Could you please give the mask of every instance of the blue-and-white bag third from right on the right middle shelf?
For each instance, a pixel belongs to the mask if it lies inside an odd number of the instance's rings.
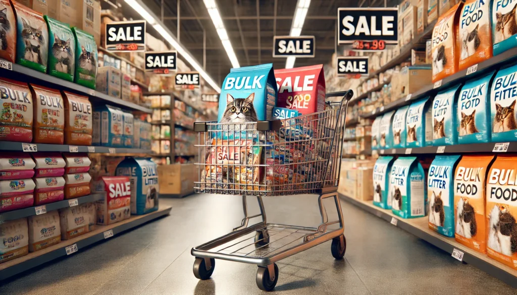
[[[438,92],[433,100],[433,146],[458,144],[455,97],[460,85]]]

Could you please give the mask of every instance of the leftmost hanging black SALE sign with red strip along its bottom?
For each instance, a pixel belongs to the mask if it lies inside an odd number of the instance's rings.
[[[106,49],[111,52],[145,51],[145,21],[106,24]]]

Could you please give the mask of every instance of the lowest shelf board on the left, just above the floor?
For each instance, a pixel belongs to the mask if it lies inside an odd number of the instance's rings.
[[[35,268],[47,263],[51,260],[59,257],[66,257],[66,247],[77,244],[78,252],[81,252],[85,247],[102,241],[104,238],[104,232],[112,230],[113,236],[117,236],[126,230],[140,226],[151,220],[160,218],[161,216],[168,215],[171,211],[171,207],[160,207],[158,211],[148,213],[146,215],[131,215],[131,218],[121,221],[119,223],[97,226],[95,230],[87,232],[86,234],[73,238],[70,240],[64,240],[57,245],[48,247],[37,252],[29,253],[28,255],[7,261],[0,264],[0,281],[5,280],[8,277],[19,274],[23,271]],[[110,232],[111,234],[111,232]],[[112,239],[113,237],[108,237]]]

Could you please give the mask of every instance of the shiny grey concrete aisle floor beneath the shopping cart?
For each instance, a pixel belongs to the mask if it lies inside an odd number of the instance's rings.
[[[240,224],[240,197],[202,194],[161,201],[173,207],[170,216],[0,282],[0,294],[262,293],[254,265],[217,260],[211,280],[199,281],[192,274],[190,249]],[[268,222],[315,226],[320,221],[314,196],[266,198],[265,206]],[[345,201],[341,206],[346,259],[334,260],[326,242],[281,260],[273,293],[517,294],[376,216]]]

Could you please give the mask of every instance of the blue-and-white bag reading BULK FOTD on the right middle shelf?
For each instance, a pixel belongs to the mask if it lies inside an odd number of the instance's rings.
[[[458,144],[488,143],[490,132],[490,86],[495,72],[470,80],[458,96]]]

